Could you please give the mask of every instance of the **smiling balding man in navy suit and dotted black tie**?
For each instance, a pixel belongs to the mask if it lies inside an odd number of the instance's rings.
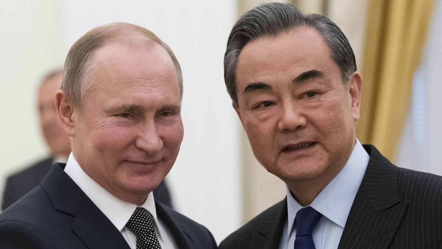
[[[81,37],[55,95],[72,153],[0,214],[0,248],[217,248],[152,195],[183,139],[182,86],[175,55],[145,28],[112,23]]]

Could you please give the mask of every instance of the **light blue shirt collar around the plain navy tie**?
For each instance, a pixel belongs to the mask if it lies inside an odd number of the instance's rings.
[[[344,228],[369,160],[370,156],[359,140],[356,139],[353,151],[343,169],[316,196],[310,206],[338,226]],[[293,198],[287,185],[286,189],[289,225],[287,226],[287,233],[289,238],[296,213],[303,207]]]

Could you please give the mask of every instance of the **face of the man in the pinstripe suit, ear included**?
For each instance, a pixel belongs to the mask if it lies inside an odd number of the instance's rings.
[[[258,38],[241,51],[236,111],[255,157],[287,184],[333,178],[355,143],[361,81],[343,84],[312,28]],[[290,184],[289,184],[290,185]]]

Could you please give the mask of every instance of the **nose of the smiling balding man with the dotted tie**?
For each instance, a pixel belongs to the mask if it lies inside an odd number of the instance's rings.
[[[154,120],[147,120],[140,127],[139,134],[135,140],[135,146],[149,155],[159,153],[161,148],[163,148],[163,140],[160,138]]]

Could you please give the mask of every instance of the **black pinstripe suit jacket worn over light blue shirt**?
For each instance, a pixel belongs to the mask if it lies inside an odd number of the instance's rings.
[[[370,161],[338,249],[442,248],[442,177],[398,168],[371,145]],[[220,249],[278,249],[287,199],[221,242]]]

